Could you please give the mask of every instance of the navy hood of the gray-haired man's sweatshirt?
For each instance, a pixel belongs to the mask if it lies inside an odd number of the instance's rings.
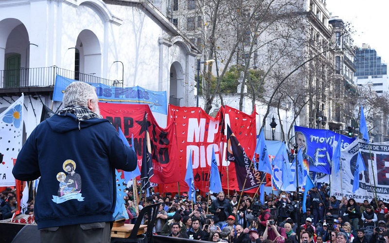
[[[82,128],[93,126],[102,122],[109,122],[106,119],[91,118],[85,121],[79,121],[77,117],[71,113],[55,114],[51,118],[45,120],[50,128],[56,133],[67,133],[72,130],[81,130]]]

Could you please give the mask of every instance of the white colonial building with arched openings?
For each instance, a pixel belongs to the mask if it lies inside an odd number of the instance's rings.
[[[55,74],[110,86],[167,91],[195,101],[194,44],[141,0],[1,0],[0,112],[25,94],[29,134],[52,104]],[[169,100],[168,100],[169,102]],[[156,114],[160,125],[166,116]]]

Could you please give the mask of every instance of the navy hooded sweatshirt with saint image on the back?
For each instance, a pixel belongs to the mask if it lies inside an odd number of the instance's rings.
[[[113,221],[115,168],[133,171],[136,165],[135,152],[108,120],[60,113],[35,127],[13,174],[22,181],[41,176],[34,212],[41,229]]]

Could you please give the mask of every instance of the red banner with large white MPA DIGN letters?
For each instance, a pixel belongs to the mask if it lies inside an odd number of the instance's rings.
[[[213,148],[223,189],[238,189],[235,165],[226,160],[227,124],[230,124],[232,132],[240,141],[247,155],[252,156],[256,139],[255,112],[245,114],[226,105],[225,108],[220,107],[216,117],[213,118],[201,107],[169,105],[168,113],[169,119],[176,119],[181,176],[186,172],[186,161],[188,161],[189,153],[192,150],[195,187],[200,191],[209,191]],[[183,177],[179,186],[180,191],[188,191]],[[177,184],[164,185],[163,191],[177,191]],[[252,189],[248,192],[255,191],[256,189]]]

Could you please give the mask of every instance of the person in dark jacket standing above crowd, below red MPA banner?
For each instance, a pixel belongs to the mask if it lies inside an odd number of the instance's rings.
[[[226,224],[228,216],[232,214],[232,207],[230,205],[230,200],[225,198],[223,191],[220,191],[217,194],[217,198],[212,201],[210,212],[213,213],[213,221],[216,226],[221,228]]]

